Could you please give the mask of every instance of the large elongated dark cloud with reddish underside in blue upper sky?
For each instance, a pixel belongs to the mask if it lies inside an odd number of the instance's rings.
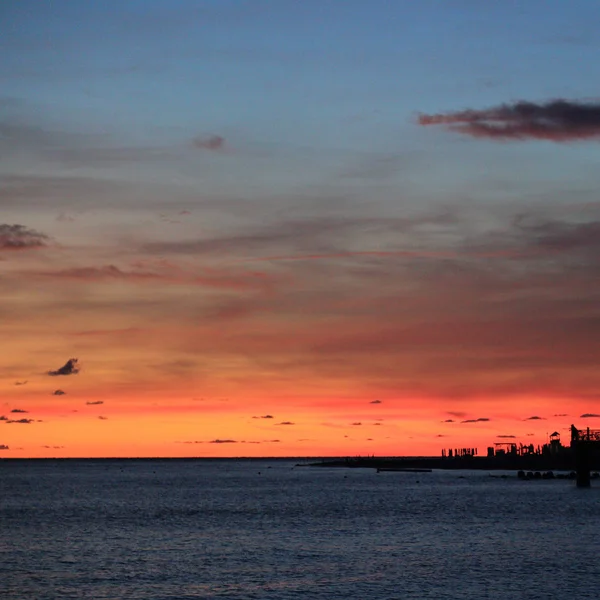
[[[500,140],[553,142],[600,138],[600,104],[570,100],[520,101],[483,110],[419,116],[420,125],[447,125],[470,135]]]

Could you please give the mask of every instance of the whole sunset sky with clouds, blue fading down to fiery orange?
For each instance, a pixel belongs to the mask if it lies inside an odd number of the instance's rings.
[[[0,457],[600,428],[596,0],[0,3]]]

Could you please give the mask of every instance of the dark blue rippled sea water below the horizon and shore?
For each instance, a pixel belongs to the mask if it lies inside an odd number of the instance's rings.
[[[600,597],[600,483],[0,461],[0,597]]]

